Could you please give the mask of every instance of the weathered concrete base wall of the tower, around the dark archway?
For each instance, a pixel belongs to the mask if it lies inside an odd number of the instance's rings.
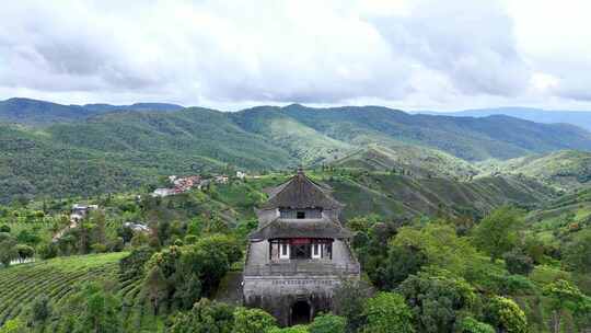
[[[333,291],[341,280],[341,276],[335,275],[244,277],[244,305],[264,309],[280,325],[290,325],[291,308],[297,301],[308,301],[311,318],[329,311]]]

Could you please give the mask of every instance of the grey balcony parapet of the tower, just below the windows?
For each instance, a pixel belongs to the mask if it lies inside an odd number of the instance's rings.
[[[289,262],[276,262],[268,264],[250,264],[244,267],[244,276],[271,276],[271,275],[357,275],[360,272],[359,264],[320,263],[305,260],[290,260]]]

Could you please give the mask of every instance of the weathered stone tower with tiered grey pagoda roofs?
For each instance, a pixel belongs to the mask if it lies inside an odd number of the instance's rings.
[[[265,309],[282,325],[305,323],[331,310],[343,279],[359,278],[351,233],[338,219],[343,204],[301,170],[268,193],[250,236],[244,303]]]

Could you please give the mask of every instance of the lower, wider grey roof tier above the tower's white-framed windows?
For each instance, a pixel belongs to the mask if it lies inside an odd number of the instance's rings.
[[[280,238],[350,238],[351,232],[331,219],[277,218],[250,234],[251,240]]]

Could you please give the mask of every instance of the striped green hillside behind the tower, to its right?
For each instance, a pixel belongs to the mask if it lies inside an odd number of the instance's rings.
[[[552,198],[552,188],[517,177],[483,177],[473,182],[449,179],[414,179],[385,173],[333,177],[327,183],[335,197],[347,204],[347,218],[379,214],[386,217],[434,215],[439,209],[454,214],[483,215],[502,204],[532,206]]]

